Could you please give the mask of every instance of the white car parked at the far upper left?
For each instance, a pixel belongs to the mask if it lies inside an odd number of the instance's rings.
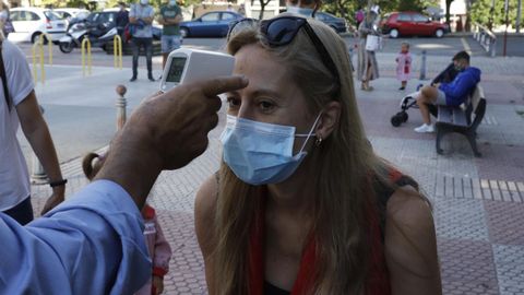
[[[53,43],[58,43],[68,27],[68,22],[49,9],[13,8],[10,17],[14,26],[14,33],[9,34],[12,42],[35,43],[39,35],[46,33]]]

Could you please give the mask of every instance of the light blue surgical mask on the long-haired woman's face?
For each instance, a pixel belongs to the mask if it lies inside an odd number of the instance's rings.
[[[308,134],[295,134],[295,127],[227,116],[221,141],[224,162],[243,182],[259,186],[286,180],[298,168],[307,152],[303,151],[320,115]],[[300,151],[293,155],[295,138],[307,138]]]

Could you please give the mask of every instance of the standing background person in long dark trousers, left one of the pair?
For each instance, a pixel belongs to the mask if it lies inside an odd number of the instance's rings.
[[[131,82],[136,81],[139,74],[139,55],[140,48],[144,47],[145,60],[147,63],[147,79],[155,82],[153,78],[153,17],[155,10],[150,5],[148,0],[140,0],[131,7],[129,13],[129,22],[133,25],[132,44],[133,44],[133,76]]]

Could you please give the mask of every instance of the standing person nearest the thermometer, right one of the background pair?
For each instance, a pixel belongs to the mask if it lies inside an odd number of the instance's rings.
[[[166,67],[169,52],[180,48],[180,22],[183,21],[182,10],[176,0],[169,0],[167,4],[160,8],[160,17],[158,23],[164,25],[162,31],[162,68]]]

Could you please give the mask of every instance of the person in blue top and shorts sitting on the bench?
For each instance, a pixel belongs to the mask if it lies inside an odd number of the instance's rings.
[[[415,128],[416,132],[434,131],[434,126],[431,125],[431,118],[429,117],[428,105],[458,106],[464,103],[467,95],[472,93],[475,85],[480,81],[480,70],[469,67],[469,55],[466,51],[456,54],[453,57],[453,64],[458,74],[452,82],[437,83],[420,88],[416,99],[424,123]]]

